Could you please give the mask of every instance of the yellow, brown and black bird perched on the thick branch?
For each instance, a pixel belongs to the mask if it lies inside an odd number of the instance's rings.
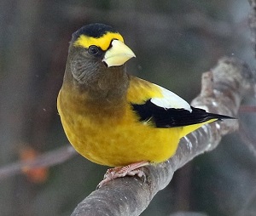
[[[110,167],[99,184],[172,157],[187,134],[232,117],[189,105],[166,88],[132,76],[136,57],[119,31],[101,23],[72,35],[57,109],[67,139],[91,162]]]

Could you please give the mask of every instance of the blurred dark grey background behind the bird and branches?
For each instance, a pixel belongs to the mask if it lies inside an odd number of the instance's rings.
[[[201,73],[220,57],[255,65],[249,9],[241,0],[1,0],[0,168],[68,144],[56,97],[68,42],[79,27],[114,26],[137,55],[127,65],[131,74],[191,101],[200,92]],[[255,140],[253,115],[241,113],[240,121]],[[256,159],[246,142],[239,133],[226,136],[216,150],[178,170],[142,215],[256,215]],[[75,155],[0,179],[0,215],[70,215],[106,169]]]

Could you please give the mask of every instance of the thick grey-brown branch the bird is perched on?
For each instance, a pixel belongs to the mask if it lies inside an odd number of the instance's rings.
[[[236,116],[243,95],[253,92],[253,73],[240,60],[223,58],[202,76],[201,94],[192,105],[208,111]],[[144,168],[146,179],[125,177],[93,191],[79,203],[72,216],[139,215],[154,195],[166,187],[173,173],[195,156],[217,147],[224,134],[238,128],[237,120],[215,122],[198,129],[180,141],[177,152],[166,162]]]

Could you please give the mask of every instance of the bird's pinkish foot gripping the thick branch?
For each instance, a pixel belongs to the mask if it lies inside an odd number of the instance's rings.
[[[145,174],[143,170],[140,168],[148,165],[149,162],[135,162],[131,163],[125,167],[116,167],[116,168],[109,168],[107,170],[107,173],[104,175],[104,179],[100,182],[100,184],[97,186],[97,188],[101,188],[103,185],[105,185],[107,182],[117,179],[120,177],[125,177],[126,175],[134,176],[137,175],[139,178],[143,177]]]

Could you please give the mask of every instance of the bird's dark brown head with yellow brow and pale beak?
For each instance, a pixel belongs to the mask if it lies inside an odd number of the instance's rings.
[[[65,79],[84,88],[108,88],[135,54],[111,26],[90,24],[73,33]],[[109,82],[109,83],[108,83]],[[102,86],[102,87],[101,87]]]

